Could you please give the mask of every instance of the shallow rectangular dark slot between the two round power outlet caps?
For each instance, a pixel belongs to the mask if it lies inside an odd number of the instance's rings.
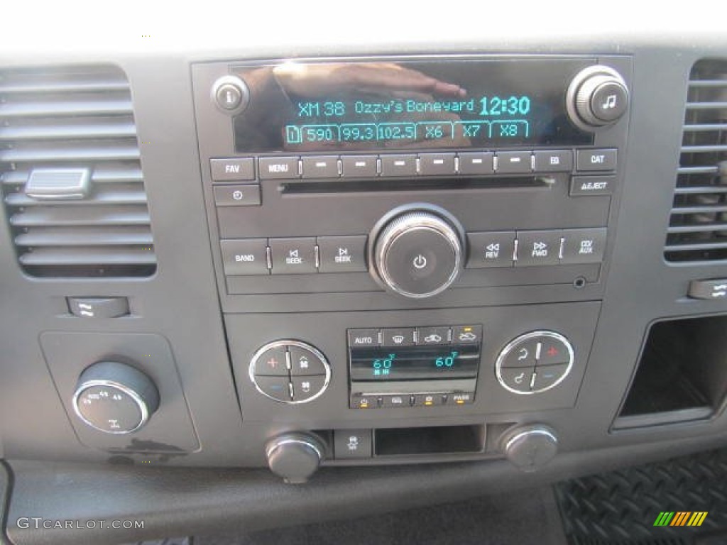
[[[374,430],[376,456],[478,453],[484,444],[485,427],[478,425]]]

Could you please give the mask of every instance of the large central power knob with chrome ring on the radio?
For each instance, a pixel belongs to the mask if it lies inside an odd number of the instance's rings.
[[[393,211],[372,238],[374,279],[397,294],[414,299],[439,294],[462,268],[462,228],[433,206]]]

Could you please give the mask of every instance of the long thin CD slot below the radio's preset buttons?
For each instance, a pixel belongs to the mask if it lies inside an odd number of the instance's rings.
[[[547,190],[556,182],[553,176],[518,177],[457,177],[457,178],[369,178],[334,179],[331,181],[301,180],[281,184],[283,195],[311,193],[371,193],[411,190],[467,190],[467,189],[541,189]]]

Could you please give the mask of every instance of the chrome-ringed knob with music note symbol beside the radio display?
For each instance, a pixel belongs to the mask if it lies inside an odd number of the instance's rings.
[[[619,121],[629,107],[629,91],[621,74],[608,66],[581,70],[568,88],[567,109],[571,121],[593,132]]]

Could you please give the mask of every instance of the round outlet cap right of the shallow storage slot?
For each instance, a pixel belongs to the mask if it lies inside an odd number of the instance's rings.
[[[507,459],[524,472],[537,471],[558,453],[555,431],[542,424],[513,429],[505,434],[501,445]]]

